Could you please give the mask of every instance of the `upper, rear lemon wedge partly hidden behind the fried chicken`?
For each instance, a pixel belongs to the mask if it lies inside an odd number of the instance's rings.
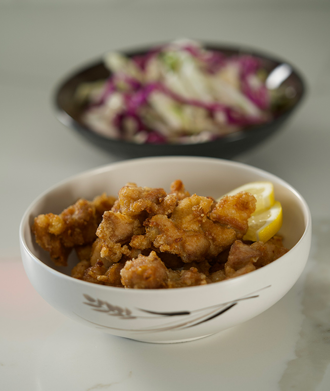
[[[227,193],[226,196],[234,196],[240,192],[248,192],[255,196],[257,200],[255,213],[269,209],[275,203],[274,185],[272,182],[259,181],[246,183],[245,185],[242,185]]]

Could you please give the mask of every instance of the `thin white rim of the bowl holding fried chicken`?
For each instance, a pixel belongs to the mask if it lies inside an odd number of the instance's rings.
[[[271,178],[273,177],[274,179],[276,179],[278,184],[280,184],[281,186],[284,186],[286,189],[288,189],[300,201],[301,206],[302,206],[302,211],[303,211],[304,223],[305,223],[304,232],[301,235],[301,238],[298,240],[298,242],[296,244],[294,244],[294,246],[291,247],[287,253],[285,253],[280,258],[278,258],[276,260],[277,261],[276,263],[272,262],[272,263],[266,265],[267,266],[267,270],[269,270],[272,267],[275,267],[274,265],[279,264],[280,262],[284,262],[283,259],[287,258],[287,256],[289,256],[289,253],[295,247],[297,247],[302,241],[304,241],[306,236],[308,236],[310,234],[311,228],[312,228],[312,217],[311,217],[311,212],[310,212],[310,209],[309,209],[309,206],[308,206],[306,200],[303,198],[303,196],[296,189],[294,189],[290,184],[288,184],[286,181],[284,181],[280,177],[276,176],[275,174],[272,174],[272,173],[267,172],[267,171],[265,171],[265,170],[263,170],[261,168],[254,167],[254,166],[251,166],[251,165],[248,165],[248,164],[245,164],[245,163],[241,163],[241,162],[237,162],[237,161],[231,161],[231,160],[227,160],[227,159],[215,158],[215,157],[203,157],[203,156],[147,156],[147,157],[139,157],[139,158],[128,159],[128,160],[123,160],[123,161],[116,161],[116,162],[108,163],[108,164],[105,164],[105,165],[101,165],[101,166],[98,166],[98,167],[95,167],[95,168],[92,168],[92,169],[80,172],[78,174],[72,175],[72,176],[70,176],[70,177],[68,177],[68,178],[66,178],[66,179],[64,179],[64,180],[62,180],[62,181],[52,185],[48,189],[46,189],[44,192],[42,192],[37,198],[35,198],[30,203],[30,205],[27,207],[27,209],[25,210],[25,212],[24,212],[24,214],[23,214],[23,216],[21,218],[21,222],[20,222],[20,225],[19,225],[19,242],[20,242],[20,245],[21,245],[22,249],[24,249],[24,251],[30,256],[30,258],[33,259],[34,262],[38,263],[39,266],[43,267],[48,272],[53,273],[55,276],[57,276],[59,278],[68,279],[68,281],[70,280],[74,284],[83,284],[83,286],[86,286],[86,287],[91,286],[91,284],[93,284],[93,283],[75,279],[75,278],[73,278],[73,277],[71,277],[69,275],[66,275],[66,274],[64,274],[64,273],[62,273],[60,271],[57,271],[57,270],[53,269],[51,266],[46,265],[29,248],[28,244],[26,243],[25,230],[26,230],[27,226],[29,225],[28,221],[29,221],[29,218],[30,218],[30,215],[31,215],[31,210],[34,208],[34,206],[36,206],[38,204],[38,202],[43,197],[45,197],[47,194],[50,194],[55,189],[57,189],[59,187],[62,187],[62,186],[65,186],[65,185],[68,185],[72,180],[78,180],[79,178],[83,178],[84,176],[89,176],[91,174],[101,174],[101,173],[107,172],[109,170],[110,171],[115,170],[117,167],[124,167],[124,166],[132,165],[132,164],[135,164],[135,163],[143,164],[144,162],[152,161],[152,160],[157,160],[157,161],[161,161],[161,160],[166,160],[166,161],[168,161],[168,160],[183,161],[183,160],[186,160],[186,161],[189,161],[191,159],[198,160],[198,161],[205,161],[205,162],[218,162],[219,164],[236,166],[236,167],[241,167],[241,168],[245,168],[245,169],[246,168],[247,169],[252,169],[252,171],[254,171],[255,173],[267,174],[267,176],[269,176]],[[21,258],[23,258],[22,254],[21,254]],[[223,280],[223,281],[215,282],[215,283],[212,283],[212,284],[206,284],[206,285],[200,285],[200,286],[191,286],[191,287],[184,287],[184,288],[185,288],[185,291],[187,289],[189,289],[189,292],[191,292],[192,290],[202,289],[202,287],[204,287],[204,290],[205,289],[214,289],[214,287],[216,287],[218,284],[222,284],[222,286],[235,285],[235,284],[239,283],[242,280],[248,279],[251,274],[253,274],[255,276],[256,273],[258,273],[258,274],[264,273],[264,270],[265,270],[265,267],[261,267],[259,269],[254,270],[251,273],[243,274],[243,275],[237,276],[237,277],[235,277],[233,279]],[[118,292],[134,292],[135,294],[139,294],[139,295],[148,294],[147,292],[150,292],[150,291],[153,294],[154,293],[159,294],[159,292],[173,292],[173,291],[177,292],[178,290],[182,290],[182,288],[171,288],[171,289],[121,289],[121,288],[118,288],[118,287],[111,287],[111,286],[105,286],[105,285],[100,285],[100,284],[93,284],[93,286],[97,286],[99,289],[107,290],[108,292],[117,292],[117,293]],[[130,294],[130,293],[127,293],[127,294]],[[170,293],[165,293],[165,294],[170,294]]]

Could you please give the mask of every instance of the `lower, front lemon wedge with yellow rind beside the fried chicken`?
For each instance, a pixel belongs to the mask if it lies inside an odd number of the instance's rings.
[[[267,242],[282,227],[283,212],[280,201],[275,201],[274,205],[266,210],[257,212],[248,219],[248,230],[243,240],[252,242]]]

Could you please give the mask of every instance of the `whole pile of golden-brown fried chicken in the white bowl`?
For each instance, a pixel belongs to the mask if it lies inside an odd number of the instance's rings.
[[[35,218],[36,241],[57,265],[75,248],[74,278],[132,289],[182,288],[234,278],[263,267],[287,249],[276,236],[244,243],[256,200],[249,193],[190,195],[181,180],[170,192],[128,183],[118,199],[79,199],[59,215]]]

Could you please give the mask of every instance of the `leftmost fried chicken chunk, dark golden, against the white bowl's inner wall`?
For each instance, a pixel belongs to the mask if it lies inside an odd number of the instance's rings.
[[[72,247],[93,243],[104,208],[111,208],[113,200],[105,194],[93,201],[81,198],[59,215],[40,214],[32,226],[36,242],[56,265],[66,266]]]

